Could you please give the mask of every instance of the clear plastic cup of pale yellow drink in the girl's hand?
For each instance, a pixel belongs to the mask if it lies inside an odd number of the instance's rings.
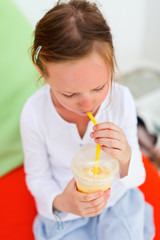
[[[72,160],[72,171],[80,192],[106,191],[112,185],[119,163],[115,158],[100,151],[98,174],[94,174],[96,145],[86,146]]]

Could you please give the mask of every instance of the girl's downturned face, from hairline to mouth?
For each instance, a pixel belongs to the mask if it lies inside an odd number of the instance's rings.
[[[98,53],[77,61],[47,63],[46,68],[55,106],[85,116],[94,113],[106,98],[111,73]]]

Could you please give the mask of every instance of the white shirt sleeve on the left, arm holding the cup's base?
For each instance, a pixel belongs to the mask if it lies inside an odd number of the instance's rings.
[[[27,104],[20,118],[26,183],[39,214],[53,219],[52,203],[61,190],[51,174],[46,144],[34,115],[32,107]]]

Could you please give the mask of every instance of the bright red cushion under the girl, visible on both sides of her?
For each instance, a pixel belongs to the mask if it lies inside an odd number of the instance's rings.
[[[160,239],[160,178],[151,162],[144,156],[146,181],[140,186],[147,202],[155,211],[156,237]],[[0,180],[0,239],[33,240],[32,224],[36,215],[35,204],[25,184],[23,167],[20,167]]]

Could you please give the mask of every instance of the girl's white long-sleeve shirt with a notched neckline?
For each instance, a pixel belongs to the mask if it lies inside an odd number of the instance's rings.
[[[113,84],[100,106],[95,119],[98,123],[113,122],[127,137],[132,149],[128,175],[116,178],[107,206],[113,206],[129,189],[145,180],[145,170],[137,140],[137,118],[133,98],[128,88]],[[66,122],[53,105],[49,85],[41,87],[26,102],[21,114],[21,137],[28,188],[35,198],[38,213],[54,220],[52,203],[73,178],[71,162],[82,145],[93,143],[90,121],[81,139],[76,124]],[[79,218],[61,213],[63,221]]]

